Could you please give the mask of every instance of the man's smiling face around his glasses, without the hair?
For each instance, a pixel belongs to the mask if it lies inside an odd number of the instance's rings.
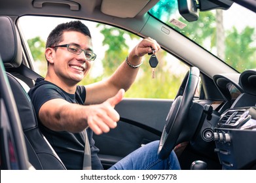
[[[65,31],[63,41],[58,45],[73,44],[82,50],[92,51],[92,40],[90,37],[77,31]],[[84,52],[73,54],[66,47],[57,47],[53,56],[54,73],[60,80],[68,84],[77,84],[88,73],[91,61],[85,58]]]

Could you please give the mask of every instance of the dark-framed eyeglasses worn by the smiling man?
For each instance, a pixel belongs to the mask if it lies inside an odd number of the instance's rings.
[[[76,55],[79,55],[82,52],[84,52],[86,59],[90,61],[94,61],[94,59],[96,59],[96,54],[94,54],[94,52],[91,52],[88,50],[82,50],[81,48],[79,48],[79,46],[75,46],[73,44],[62,44],[62,45],[52,46],[51,48],[56,48],[56,47],[64,47],[64,48],[66,47],[67,51]]]

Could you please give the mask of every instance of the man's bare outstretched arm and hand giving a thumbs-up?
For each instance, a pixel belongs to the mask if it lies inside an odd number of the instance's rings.
[[[42,105],[39,118],[43,125],[53,131],[80,132],[90,127],[97,135],[107,133],[115,128],[119,121],[119,114],[114,109],[122,100],[124,90],[107,99],[100,105],[78,105],[64,99],[52,99]],[[54,107],[52,107],[54,106]]]

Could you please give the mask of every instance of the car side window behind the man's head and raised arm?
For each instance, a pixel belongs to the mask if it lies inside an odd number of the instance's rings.
[[[44,55],[46,38],[56,25],[68,21],[70,19],[33,16],[24,16],[19,20],[22,35],[33,56],[33,67],[42,76],[46,75],[47,69]],[[90,29],[94,52],[97,54],[91,71],[80,83],[86,85],[110,76],[141,38],[109,25],[82,22]],[[29,26],[31,24],[33,27]],[[159,63],[155,69],[155,78],[152,78],[149,65],[150,56],[144,56],[136,81],[125,97],[174,99],[189,67],[164,50],[160,50],[156,56]]]

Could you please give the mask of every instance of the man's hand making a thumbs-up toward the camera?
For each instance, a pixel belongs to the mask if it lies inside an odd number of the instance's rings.
[[[123,97],[124,90],[120,89],[114,97],[107,99],[100,105],[90,106],[87,123],[94,133],[100,135],[101,133],[109,132],[111,128],[117,127],[120,116],[114,107]]]

